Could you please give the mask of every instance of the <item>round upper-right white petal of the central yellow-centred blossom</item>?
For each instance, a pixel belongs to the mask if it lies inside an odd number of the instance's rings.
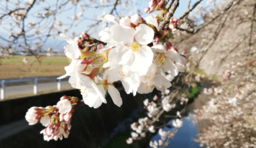
[[[139,44],[150,44],[154,39],[154,30],[146,24],[140,24],[135,31],[135,40]]]

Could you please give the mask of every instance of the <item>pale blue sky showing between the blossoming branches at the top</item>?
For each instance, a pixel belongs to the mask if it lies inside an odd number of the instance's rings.
[[[134,2],[135,1],[135,5]],[[189,0],[180,0],[180,5],[177,8],[177,11],[174,13],[174,17],[179,17],[180,15],[182,15],[186,10],[187,10],[187,3]],[[197,0],[191,0],[191,5],[193,5],[193,3],[195,3]],[[207,0],[203,0],[200,5],[206,5],[206,1]],[[35,17],[32,17],[32,15],[36,15],[36,12],[38,10],[42,10],[42,7],[46,7],[46,6],[51,6],[55,3],[55,1],[46,1],[44,3],[40,3],[40,5],[35,5],[33,7],[33,9],[30,11],[28,19],[26,20],[26,24],[30,23],[30,22],[36,22],[38,20],[35,19]],[[83,1],[83,3],[88,3],[88,1]],[[94,5],[94,4],[90,4],[89,5]],[[5,5],[5,1],[1,1],[0,5]],[[82,12],[82,9],[80,9],[79,7],[77,7],[77,9],[70,9],[73,5],[68,4],[64,9],[69,9],[68,11],[65,11],[63,13],[61,13],[61,15],[57,15],[57,21],[61,21],[63,22],[63,24],[67,24],[71,22],[71,17],[79,12]],[[128,6],[129,7],[129,6]],[[127,15],[133,15],[137,12],[137,9],[141,10],[141,15],[142,17],[147,17],[149,14],[148,13],[144,13],[143,9],[145,9],[145,7],[148,7],[148,0],[131,0],[131,9],[125,9],[125,7],[123,5],[118,5],[117,6],[117,12],[119,13],[119,15],[123,15],[123,16],[127,16]],[[106,8],[106,13],[110,12],[110,9],[112,9],[112,7],[107,7]],[[0,11],[3,12],[3,11]],[[94,8],[88,8],[85,9],[85,11],[83,12],[83,17],[87,17],[90,18],[91,20],[84,20],[84,21],[76,21],[75,22],[75,26],[72,26],[67,34],[69,36],[72,35],[72,32],[75,32],[76,34],[80,34],[81,32],[84,32],[85,30],[88,30],[88,26],[90,26],[91,24],[94,24],[93,20],[98,20],[98,15],[102,14],[102,7],[98,7],[97,9]],[[154,13],[158,13],[157,11]],[[114,15],[117,15],[117,13],[114,12]],[[44,22],[46,24],[51,24],[51,23],[55,23],[55,22]],[[3,29],[3,27],[8,28],[8,24],[5,24],[5,22],[2,22],[0,25],[0,32],[1,32],[1,36],[4,38],[7,38],[7,34],[8,32],[6,30]],[[58,30],[60,30],[62,32],[63,28],[65,26],[62,26],[60,28],[58,28]],[[98,38],[98,32],[101,30],[101,27],[96,28],[96,30],[90,30],[90,32],[88,34],[90,34],[91,36],[93,36],[94,38]],[[45,32],[46,30],[42,30],[42,32]],[[92,32],[95,32],[94,34],[92,34]],[[34,30],[30,30],[29,32],[30,34],[34,34]],[[0,43],[3,44],[3,40],[0,39]],[[49,48],[50,46],[53,46],[54,49],[58,49],[58,50],[62,50],[63,46],[65,46],[65,44],[67,44],[65,42],[65,40],[63,40],[61,37],[57,37],[55,39],[53,38],[49,38],[46,42],[46,44],[44,44],[43,48]]]

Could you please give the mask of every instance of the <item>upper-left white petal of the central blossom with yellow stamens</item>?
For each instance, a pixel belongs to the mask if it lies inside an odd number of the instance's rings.
[[[134,32],[133,28],[115,25],[110,28],[110,38],[120,44],[130,44],[133,42]]]

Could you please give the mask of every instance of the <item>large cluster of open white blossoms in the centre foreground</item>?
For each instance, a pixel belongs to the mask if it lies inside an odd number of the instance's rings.
[[[106,45],[98,52],[97,43],[86,32],[75,40],[61,34],[69,43],[64,48],[71,63],[65,67],[67,73],[59,79],[70,76],[69,83],[80,89],[88,106],[98,108],[106,103],[104,96],[108,91],[120,107],[123,102],[113,85],[117,81],[121,81],[127,94],[135,96],[148,94],[154,88],[164,91],[171,86],[172,77],[185,71],[186,57],[168,41],[166,32],[156,30],[155,15],[145,20],[139,14],[120,20],[104,15],[102,20],[111,26],[100,31],[100,40]],[[154,42],[156,38],[159,39],[157,43]],[[100,72],[103,72],[102,79],[96,77]],[[154,112],[154,107],[152,109]]]

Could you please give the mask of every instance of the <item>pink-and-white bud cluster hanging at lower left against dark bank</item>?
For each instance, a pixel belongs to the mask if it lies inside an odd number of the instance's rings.
[[[28,124],[36,124],[39,119],[44,130],[40,133],[44,135],[44,141],[63,139],[69,137],[71,129],[72,113],[77,109],[77,104],[81,103],[76,97],[63,96],[56,106],[32,107],[26,113]]]

